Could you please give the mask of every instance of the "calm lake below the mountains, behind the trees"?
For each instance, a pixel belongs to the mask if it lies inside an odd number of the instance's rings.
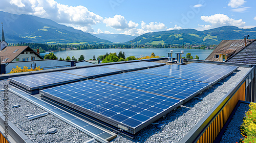
[[[118,53],[120,51],[124,52],[125,57],[129,56],[135,56],[136,58],[139,58],[141,56],[150,56],[152,52],[155,53],[156,56],[164,56],[167,57],[166,52],[170,52],[170,50],[173,50],[175,52],[180,52],[181,50],[184,51],[184,54],[182,54],[182,57],[185,57],[187,53],[191,53],[191,56],[193,58],[196,57],[196,55],[199,56],[200,60],[205,60],[208,55],[212,52],[212,50],[200,50],[200,49],[167,49],[167,48],[162,48],[162,49],[93,49],[93,50],[74,50],[74,51],[59,51],[59,52],[53,52],[58,59],[61,57],[67,58],[67,56],[70,56],[72,58],[73,56],[78,59],[80,55],[84,56],[85,60],[93,59],[93,55],[95,55],[96,59],[98,55],[104,55],[107,52],[110,53]],[[45,54],[45,53],[44,53]],[[40,55],[44,55],[40,54]],[[176,55],[174,55],[176,58]]]

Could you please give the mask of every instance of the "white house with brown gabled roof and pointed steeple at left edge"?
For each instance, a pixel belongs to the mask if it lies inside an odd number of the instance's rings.
[[[0,42],[0,57],[1,63],[43,60],[43,58],[29,46],[8,46],[8,43],[5,41],[3,26],[2,41]]]

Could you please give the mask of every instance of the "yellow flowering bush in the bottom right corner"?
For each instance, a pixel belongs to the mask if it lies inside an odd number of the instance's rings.
[[[249,108],[245,112],[244,123],[240,126],[240,131],[244,139],[239,140],[239,142],[256,142],[256,103],[250,103]]]

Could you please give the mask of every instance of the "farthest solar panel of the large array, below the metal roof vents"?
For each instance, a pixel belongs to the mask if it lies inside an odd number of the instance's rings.
[[[219,65],[219,64],[206,64],[206,63],[190,63],[187,65],[164,65],[159,68],[175,69],[175,70],[184,70],[192,71],[197,73],[206,73],[214,75],[224,75],[227,76],[236,70],[238,66],[231,65]]]

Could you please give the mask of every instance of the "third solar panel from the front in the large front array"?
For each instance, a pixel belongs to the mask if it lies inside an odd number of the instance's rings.
[[[218,82],[224,77],[223,75],[196,73],[192,71],[175,70],[175,69],[167,69],[167,68],[150,68],[150,69],[138,70],[136,72],[173,77],[173,78],[180,78],[180,79],[186,79],[186,80],[194,80],[194,81],[200,81],[200,82],[208,82],[208,83]]]

